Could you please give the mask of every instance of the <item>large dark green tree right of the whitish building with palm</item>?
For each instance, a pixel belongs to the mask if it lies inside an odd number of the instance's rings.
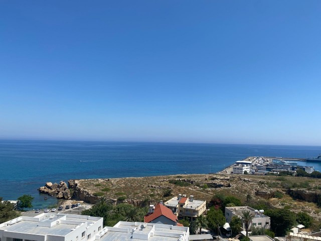
[[[296,223],[296,215],[287,208],[275,208],[265,211],[271,218],[271,230],[277,236],[284,236]]]

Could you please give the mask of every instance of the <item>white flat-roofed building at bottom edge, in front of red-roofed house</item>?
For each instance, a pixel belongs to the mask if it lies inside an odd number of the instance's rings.
[[[104,227],[99,241],[189,241],[189,227],[144,222],[119,221],[113,227]]]

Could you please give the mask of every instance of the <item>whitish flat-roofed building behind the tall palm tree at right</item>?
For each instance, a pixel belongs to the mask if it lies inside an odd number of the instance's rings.
[[[254,208],[248,206],[239,206],[239,207],[225,207],[225,218],[226,221],[229,223],[232,220],[233,216],[237,216],[242,219],[241,215],[243,211],[250,211],[251,214],[254,215],[252,222],[249,225],[254,227],[265,227],[266,229],[270,228],[271,219],[270,217],[263,214],[264,210],[256,210]],[[244,223],[243,223],[244,229]]]

